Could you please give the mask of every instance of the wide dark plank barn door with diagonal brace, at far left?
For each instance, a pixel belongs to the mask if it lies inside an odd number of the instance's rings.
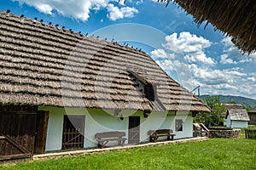
[[[37,114],[0,113],[1,156],[33,154]],[[14,156],[15,158],[15,156]]]

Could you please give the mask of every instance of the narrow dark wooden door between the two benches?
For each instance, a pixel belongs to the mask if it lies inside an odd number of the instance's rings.
[[[140,142],[140,117],[129,116],[128,144]]]

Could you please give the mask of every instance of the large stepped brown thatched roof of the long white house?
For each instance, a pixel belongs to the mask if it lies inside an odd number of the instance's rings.
[[[210,111],[148,54],[117,42],[5,12],[0,42],[0,105]],[[145,83],[160,102],[145,96]]]

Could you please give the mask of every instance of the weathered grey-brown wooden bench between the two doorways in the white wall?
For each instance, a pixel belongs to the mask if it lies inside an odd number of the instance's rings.
[[[98,142],[99,148],[104,148],[106,144],[108,144],[109,141],[116,140],[119,145],[124,146],[125,145],[125,132],[106,132],[106,133],[96,133],[95,139]]]

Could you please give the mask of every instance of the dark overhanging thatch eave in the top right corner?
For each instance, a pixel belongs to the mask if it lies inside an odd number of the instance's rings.
[[[159,0],[171,2],[172,0]],[[201,25],[207,20],[216,29],[232,37],[245,53],[256,50],[255,0],[173,0]],[[207,25],[206,25],[207,26]]]

